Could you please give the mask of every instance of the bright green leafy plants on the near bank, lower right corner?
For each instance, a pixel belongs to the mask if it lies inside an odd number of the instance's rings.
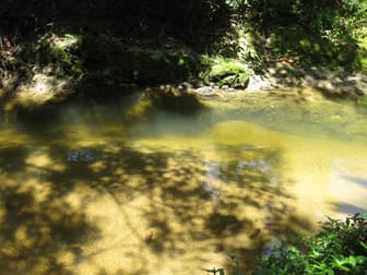
[[[303,250],[282,242],[263,256],[256,274],[356,274],[367,271],[367,214],[345,222],[328,218]]]

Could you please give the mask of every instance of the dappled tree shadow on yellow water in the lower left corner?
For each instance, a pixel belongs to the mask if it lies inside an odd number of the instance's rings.
[[[73,274],[83,246],[97,240],[99,229],[62,195],[61,180],[47,181],[55,167],[32,157],[27,146],[0,148],[1,273]]]

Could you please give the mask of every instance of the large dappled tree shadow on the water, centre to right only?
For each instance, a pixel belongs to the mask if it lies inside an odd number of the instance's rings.
[[[147,248],[162,261],[169,254],[205,264],[221,248],[221,253],[238,254],[249,268],[273,237],[297,235],[311,224],[292,213],[288,182],[276,175],[280,152],[236,153],[237,146],[227,152],[233,152],[232,160],[222,162],[203,160],[189,148],[126,146],[104,151],[79,176],[88,175],[82,177],[83,184],[109,194],[119,205],[121,218],[140,242],[130,251],[133,256],[144,259],[139,251]],[[69,180],[79,176],[72,172]],[[251,258],[241,258],[247,250]]]

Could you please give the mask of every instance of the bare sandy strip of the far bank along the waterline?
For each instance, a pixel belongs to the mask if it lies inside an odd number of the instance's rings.
[[[162,84],[154,91],[177,89],[196,94],[199,97],[212,97],[223,94],[238,94],[238,92],[271,92],[280,88],[311,87],[320,92],[325,97],[364,97],[367,95],[367,75],[360,73],[350,73],[342,70],[331,71],[323,67],[305,68],[291,64],[285,60],[272,62],[269,67],[254,73],[250,71],[248,80],[240,87],[218,85],[218,83],[204,83],[202,81],[182,82],[177,84]],[[104,87],[98,87],[103,89]],[[119,87],[105,87],[109,93],[121,94],[128,91],[146,89],[134,84],[121,85]],[[34,108],[50,103],[66,100],[78,93],[88,91],[78,91],[72,79],[59,79],[47,74],[35,74],[31,82],[20,85],[12,94],[7,94],[0,89],[0,100],[4,110],[12,110],[16,107]],[[241,94],[241,93],[239,93]],[[102,95],[103,97],[103,95]]]

